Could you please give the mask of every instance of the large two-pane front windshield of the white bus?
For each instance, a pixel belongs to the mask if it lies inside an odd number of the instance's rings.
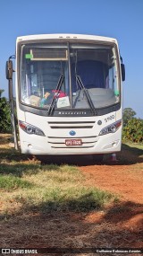
[[[113,45],[33,43],[21,46],[21,103],[38,109],[100,109],[120,101]]]

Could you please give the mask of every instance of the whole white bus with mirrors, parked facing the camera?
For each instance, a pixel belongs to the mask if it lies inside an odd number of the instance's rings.
[[[15,148],[13,61],[6,63]],[[80,34],[18,37],[15,96],[22,154],[119,152],[124,65],[117,40]]]

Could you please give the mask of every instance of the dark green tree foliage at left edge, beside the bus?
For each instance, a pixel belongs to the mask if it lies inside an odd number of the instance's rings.
[[[11,132],[11,111],[9,102],[2,97],[4,90],[0,90],[0,132]]]

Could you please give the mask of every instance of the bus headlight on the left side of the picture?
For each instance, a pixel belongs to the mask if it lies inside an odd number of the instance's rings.
[[[39,129],[37,127],[34,127],[32,125],[29,125],[26,122],[22,122],[22,121],[19,120],[19,126],[21,127],[21,129],[23,131],[25,131],[29,135],[30,134],[35,134],[35,135],[38,135],[38,136],[45,136],[44,132],[41,129]]]

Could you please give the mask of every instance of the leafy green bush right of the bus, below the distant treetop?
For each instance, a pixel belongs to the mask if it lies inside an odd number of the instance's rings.
[[[123,128],[122,138],[132,142],[143,141],[143,119],[130,119],[127,125]]]

